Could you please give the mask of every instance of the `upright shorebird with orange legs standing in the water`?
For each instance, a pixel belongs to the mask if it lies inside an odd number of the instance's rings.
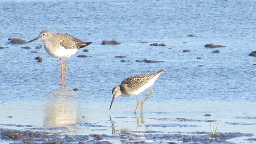
[[[67,58],[77,53],[79,48],[88,46],[92,42],[84,42],[78,38],[71,36],[70,34],[52,34],[50,30],[43,30],[37,38],[30,40],[32,42],[37,39],[44,40],[44,48],[50,56],[55,58],[60,58],[61,66],[61,80],[60,84],[66,84],[66,74],[68,70]],[[64,83],[63,83],[63,64],[62,58],[65,58],[65,73],[64,73]]]

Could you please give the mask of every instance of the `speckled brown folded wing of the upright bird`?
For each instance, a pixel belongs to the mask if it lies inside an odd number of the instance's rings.
[[[66,49],[83,48],[92,43],[84,42],[78,38],[75,38],[74,36],[71,36],[70,34],[62,34],[59,38],[61,39],[60,45]]]

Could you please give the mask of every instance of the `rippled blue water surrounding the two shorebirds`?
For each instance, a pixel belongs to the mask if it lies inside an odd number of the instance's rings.
[[[213,119],[225,123],[237,121],[237,117],[256,116],[256,58],[248,56],[256,50],[255,7],[254,0],[3,0],[0,46],[5,48],[0,49],[0,123],[45,126],[54,121],[47,119],[49,115],[61,111],[58,106],[66,105],[70,112],[63,112],[60,121],[71,115],[74,118],[70,123],[74,124],[84,122],[81,116],[86,116],[86,122],[103,124],[109,124],[109,115],[134,117],[135,96],[116,98],[108,110],[112,88],[129,76],[162,68],[163,74],[151,87],[154,94],[144,105],[145,118],[163,112],[156,117],[205,119],[202,115],[208,112],[215,116]],[[60,86],[58,58],[49,56],[44,48],[35,49],[43,45],[42,41],[8,41],[14,37],[32,40],[44,29],[93,42],[86,47],[88,53],[78,51],[88,58],[78,58],[78,54],[68,58],[66,87]],[[101,45],[102,40],[112,39],[121,44]],[[167,46],[149,46],[155,42]],[[210,43],[226,47],[204,47]],[[32,49],[21,49],[23,46]],[[183,52],[184,49],[191,52]],[[212,53],[217,49],[220,53]],[[114,58],[116,55],[127,56],[123,58],[127,62]],[[41,56],[43,62],[36,62],[36,56]],[[165,62],[135,62],[145,58]],[[198,66],[201,64],[204,66]],[[147,94],[140,94],[140,99]],[[9,115],[14,117],[6,118]],[[117,125],[122,128],[126,123],[121,120]],[[203,125],[205,129],[194,131],[209,131],[208,123]],[[233,127],[231,131],[241,131]],[[256,125],[244,132],[256,134],[252,128]],[[80,131],[77,133],[96,132],[84,128]]]

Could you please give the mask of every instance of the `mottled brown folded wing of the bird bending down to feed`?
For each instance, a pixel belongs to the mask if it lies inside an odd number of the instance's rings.
[[[146,84],[150,79],[162,72],[163,70],[159,70],[158,72],[153,72],[151,74],[131,76],[123,80],[121,86],[125,85],[126,88],[129,88],[131,90],[138,90],[139,88],[144,86],[144,84]]]

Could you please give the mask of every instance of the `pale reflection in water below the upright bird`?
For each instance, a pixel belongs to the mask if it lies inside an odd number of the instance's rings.
[[[44,109],[45,132],[72,132],[76,129],[77,112],[75,93],[62,87],[60,90],[50,92]]]

